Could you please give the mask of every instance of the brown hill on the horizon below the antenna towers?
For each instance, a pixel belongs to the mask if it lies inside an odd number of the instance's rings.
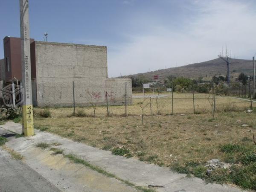
[[[252,75],[252,60],[234,59],[229,58],[230,61],[230,78],[235,79],[241,72]],[[163,80],[168,76],[183,76],[188,78],[203,77],[209,79],[212,76],[226,76],[227,65],[221,58],[216,58],[210,61],[204,61],[201,63],[189,64],[181,67],[172,67],[163,70],[151,71],[147,73],[138,73],[134,75],[124,76],[126,78],[144,76],[147,79],[153,80],[155,75],[158,75],[158,79]]]

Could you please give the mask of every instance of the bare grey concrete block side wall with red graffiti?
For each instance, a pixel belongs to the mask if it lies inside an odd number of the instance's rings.
[[[73,81],[77,106],[90,102],[105,105],[131,104],[131,79],[109,79],[107,47],[35,42],[37,105],[73,106]]]

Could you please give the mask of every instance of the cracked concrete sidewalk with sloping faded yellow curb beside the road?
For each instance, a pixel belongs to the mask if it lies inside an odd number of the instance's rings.
[[[15,124],[13,122],[7,122],[5,125],[1,125],[0,130],[9,130],[13,132],[20,133],[21,125]],[[239,188],[228,186],[228,185],[218,185],[218,184],[205,184],[203,180],[199,178],[187,178],[186,175],[178,174],[170,171],[169,168],[159,167],[154,164],[147,164],[136,160],[135,158],[124,158],[120,156],[112,155],[110,151],[100,150],[98,148],[93,148],[91,146],[85,145],[83,143],[77,143],[72,140],[59,137],[57,135],[49,134],[47,132],[41,132],[35,130],[35,136],[33,137],[20,137],[13,138],[6,145],[18,153],[22,154],[25,157],[25,161],[32,169],[37,170],[37,172],[47,178],[50,182],[52,182],[56,186],[56,177],[60,177],[60,175],[54,175],[58,170],[62,170],[67,165],[67,158],[64,158],[62,155],[58,156],[58,159],[51,159],[52,155],[50,155],[50,151],[47,149],[40,149],[35,147],[36,143],[60,143],[61,145],[54,146],[55,148],[64,149],[65,154],[75,154],[79,158],[90,162],[95,166],[99,166],[102,169],[110,172],[117,177],[128,180],[131,183],[136,184],[137,186],[148,186],[150,185],[158,185],[164,186],[163,188],[157,188],[157,191],[160,192],[239,192],[242,191]],[[77,165],[77,164],[76,164]],[[48,169],[54,169],[53,171],[49,171]],[[78,170],[77,170],[78,169]],[[84,167],[74,167],[74,169],[68,168],[64,169],[64,174],[68,177],[68,172],[72,172],[74,174],[79,169],[85,169]],[[86,168],[89,169],[89,168]],[[88,172],[82,171],[79,172],[76,177],[72,177],[68,180],[68,184],[70,188],[68,191],[82,191],[82,188],[74,190],[71,186],[72,183],[79,183],[79,186],[82,186],[81,183],[90,184],[90,180],[83,176],[83,173]],[[99,173],[98,173],[99,174]],[[74,179],[73,179],[74,178]],[[109,185],[115,183],[115,179],[108,178],[109,181],[105,180],[105,183],[110,182]],[[112,180],[111,180],[112,179]],[[77,181],[79,180],[79,182]],[[89,182],[89,183],[88,183]],[[120,186],[117,186],[119,184]],[[101,184],[99,184],[101,185]],[[104,185],[106,188],[108,184]],[[65,186],[63,186],[65,187]],[[63,188],[62,187],[62,188]],[[92,186],[93,187],[93,186]],[[120,187],[117,191],[131,191],[131,187],[123,186],[122,183],[115,183],[112,186],[112,191],[115,187]],[[127,187],[127,188],[125,188]],[[67,187],[65,187],[67,189]],[[101,191],[101,190],[98,190]]]

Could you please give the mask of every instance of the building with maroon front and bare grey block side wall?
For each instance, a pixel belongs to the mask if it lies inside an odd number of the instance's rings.
[[[3,84],[21,81],[20,38],[5,37],[4,59],[0,60]],[[32,96],[34,106],[76,105],[96,102],[110,105],[131,103],[131,79],[108,78],[107,47],[53,43],[30,39]],[[107,98],[106,98],[107,96]]]

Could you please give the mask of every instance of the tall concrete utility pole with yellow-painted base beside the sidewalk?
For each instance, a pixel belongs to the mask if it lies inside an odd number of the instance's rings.
[[[20,0],[20,40],[21,40],[21,80],[23,85],[23,131],[25,136],[34,135],[30,38],[29,38],[29,1]]]

